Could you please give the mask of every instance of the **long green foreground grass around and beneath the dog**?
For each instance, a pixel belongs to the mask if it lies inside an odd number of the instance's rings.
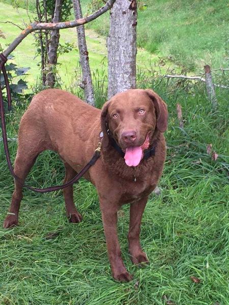
[[[19,227],[0,229],[0,304],[229,304],[228,290],[228,109],[227,93],[217,90],[219,110],[213,114],[204,87],[151,79],[168,104],[168,154],[160,180],[162,194],[152,195],[142,219],[141,244],[151,261],[138,269],[127,252],[128,205],[119,218],[124,262],[134,280],[116,283],[110,275],[95,188],[80,180],[74,199],[83,216],[67,222],[61,192],[24,192]],[[182,105],[184,129],[178,127],[176,103]],[[9,136],[17,135],[25,106],[7,115]],[[207,144],[219,155],[212,161]],[[13,191],[0,143],[0,223]],[[16,143],[10,143],[11,155]],[[33,186],[61,183],[64,168],[47,151],[28,177]],[[48,238],[47,235],[50,235]],[[194,276],[201,280],[195,284]]]

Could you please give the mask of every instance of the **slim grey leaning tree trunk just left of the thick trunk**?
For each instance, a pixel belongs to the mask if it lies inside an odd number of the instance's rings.
[[[82,11],[80,6],[80,0],[73,0],[73,8],[75,13],[75,19],[82,18]],[[78,39],[78,49],[79,49],[79,60],[82,69],[82,83],[81,88],[84,90],[84,100],[88,104],[95,106],[94,101],[94,89],[92,84],[92,75],[89,66],[89,56],[88,48],[85,39],[84,26],[80,25],[76,28],[77,39]]]

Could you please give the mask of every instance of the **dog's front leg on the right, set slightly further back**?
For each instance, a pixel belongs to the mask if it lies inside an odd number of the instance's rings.
[[[149,263],[142,251],[139,241],[141,218],[147,204],[148,196],[130,205],[130,226],[128,233],[129,253],[134,264]]]

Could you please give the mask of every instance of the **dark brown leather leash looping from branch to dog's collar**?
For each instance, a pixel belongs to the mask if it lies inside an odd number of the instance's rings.
[[[5,85],[6,85],[6,90],[7,90],[7,100],[8,100],[8,110],[12,110],[12,100],[11,100],[11,94],[10,94],[10,85],[9,85],[9,79],[7,76],[6,72],[6,67],[5,64],[7,62],[7,57],[1,53],[0,54],[0,76],[1,72],[3,72],[4,75],[4,80],[5,80]],[[65,189],[69,186],[72,186],[74,183],[76,183],[84,174],[87,172],[92,165],[96,163],[96,161],[100,157],[101,153],[101,143],[99,142],[98,148],[95,150],[95,154],[93,155],[92,159],[89,161],[87,165],[83,167],[83,169],[70,181],[68,181],[66,184],[60,185],[60,186],[53,186],[49,187],[46,189],[38,189],[38,188],[33,188],[28,185],[23,184],[23,182],[20,181],[20,178],[17,177],[15,174],[12,164],[11,164],[11,159],[10,159],[10,152],[9,152],[9,146],[8,146],[8,140],[7,140],[7,131],[6,131],[6,120],[5,120],[5,110],[4,110],[4,101],[3,101],[3,92],[2,92],[2,87],[0,83],[0,117],[1,117],[1,127],[2,127],[2,133],[3,133],[3,144],[4,144],[4,150],[5,150],[5,155],[7,159],[7,164],[9,167],[9,170],[12,174],[12,176],[26,189],[38,192],[38,193],[48,193],[48,192],[54,192],[54,191],[59,191],[62,189]]]

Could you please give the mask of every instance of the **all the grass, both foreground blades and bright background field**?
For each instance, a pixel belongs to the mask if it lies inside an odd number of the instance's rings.
[[[189,59],[193,59],[191,54],[194,54],[195,67],[199,67],[199,58],[208,54],[205,42],[210,31],[210,47],[217,46],[217,50],[211,49],[209,58],[213,66],[223,65],[225,27],[222,20],[226,21],[227,16],[223,15],[222,8],[225,2],[209,0],[203,7],[201,3],[196,0],[190,5],[187,1],[184,6],[183,2],[177,1],[171,6],[170,1],[149,1],[148,10],[139,12],[138,22],[138,31],[142,31],[138,32],[138,38],[144,39],[146,35],[148,38],[145,42],[138,40],[138,44],[152,51],[151,42],[155,41],[154,52],[160,48],[159,56],[167,56],[170,47],[177,47],[181,55],[186,53],[184,57],[175,56],[173,65],[179,62],[187,67]],[[215,12],[209,13],[210,7]],[[211,15],[217,26],[206,27],[204,11]],[[23,18],[27,18],[24,10],[19,9],[16,13],[9,5],[1,3],[0,20],[13,19],[15,23],[21,23]],[[144,31],[150,19],[154,26]],[[107,21],[101,20],[103,31]],[[184,24],[182,27],[181,20],[183,23],[192,21],[190,32],[185,32],[189,31],[189,26]],[[163,32],[165,24],[169,31]],[[96,27],[94,23],[93,28]],[[19,33],[12,24],[1,23],[1,29],[7,36],[6,43]],[[62,39],[75,41],[74,31],[66,30]],[[89,29],[87,40],[94,70],[96,104],[101,107],[106,99],[107,85],[106,60],[103,60],[106,56],[105,39]],[[1,40],[1,44],[3,42]],[[15,62],[20,67],[31,67],[27,76],[31,86],[38,76],[32,44],[33,37],[28,36],[14,52]],[[75,75],[76,82],[79,78],[76,55],[77,52],[72,51],[60,57],[60,74],[69,90],[82,95],[81,90],[72,85],[72,76]],[[139,67],[149,68],[149,58],[150,53],[142,50],[138,57]],[[155,60],[158,62],[158,57],[153,54],[152,61]],[[138,87],[153,88],[166,101],[169,111],[169,127],[165,134],[167,158],[159,185],[162,193],[158,197],[151,195],[142,219],[141,245],[150,265],[138,269],[130,261],[127,252],[129,206],[123,206],[118,224],[119,239],[124,262],[134,280],[127,284],[112,280],[98,196],[89,182],[81,179],[74,186],[75,203],[83,216],[82,223],[77,225],[67,222],[62,192],[40,195],[24,191],[19,227],[0,228],[1,305],[163,305],[169,303],[168,299],[177,305],[229,304],[228,90],[216,88],[219,109],[212,113],[203,84],[193,86],[141,72]],[[29,102],[27,100],[15,107],[13,113],[7,113],[9,137],[17,136],[20,117]],[[179,128],[177,103],[182,106],[184,129]],[[218,154],[216,161],[207,154],[206,147],[210,143]],[[9,147],[14,159],[17,145],[10,142]],[[7,168],[2,142],[0,172],[1,224],[13,192],[13,179]],[[31,186],[48,187],[60,184],[63,177],[64,166],[58,156],[46,151],[38,158],[27,182]],[[201,282],[193,283],[192,276]]]

